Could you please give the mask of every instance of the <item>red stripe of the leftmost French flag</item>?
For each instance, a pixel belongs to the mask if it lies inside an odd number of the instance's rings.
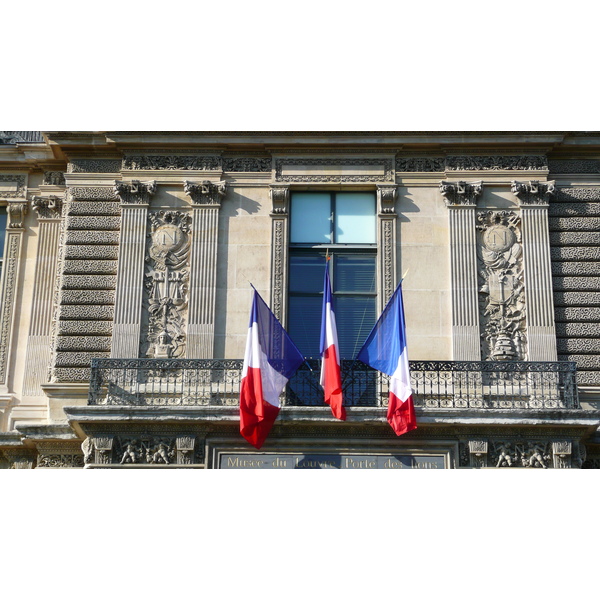
[[[249,367],[240,390],[240,433],[260,450],[278,414],[277,406],[263,400],[260,369]]]

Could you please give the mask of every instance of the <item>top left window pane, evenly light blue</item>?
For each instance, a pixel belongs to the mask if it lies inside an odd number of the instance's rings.
[[[331,197],[329,194],[294,193],[292,196],[290,242],[331,243]]]

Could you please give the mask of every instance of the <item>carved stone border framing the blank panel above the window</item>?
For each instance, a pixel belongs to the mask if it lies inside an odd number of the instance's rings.
[[[339,166],[357,168],[367,165],[382,167],[383,175],[283,175],[286,165]],[[282,158],[275,161],[275,181],[345,183],[394,181],[393,162],[387,158]]]

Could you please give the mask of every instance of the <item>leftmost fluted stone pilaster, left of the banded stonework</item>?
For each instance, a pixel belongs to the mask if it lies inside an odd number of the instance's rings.
[[[48,378],[62,204],[59,196],[34,196],[32,199],[39,229],[23,396],[44,396],[40,385]]]

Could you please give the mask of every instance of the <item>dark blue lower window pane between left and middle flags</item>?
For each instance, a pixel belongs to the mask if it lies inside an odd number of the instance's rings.
[[[307,358],[319,358],[322,296],[290,296],[288,333]]]

